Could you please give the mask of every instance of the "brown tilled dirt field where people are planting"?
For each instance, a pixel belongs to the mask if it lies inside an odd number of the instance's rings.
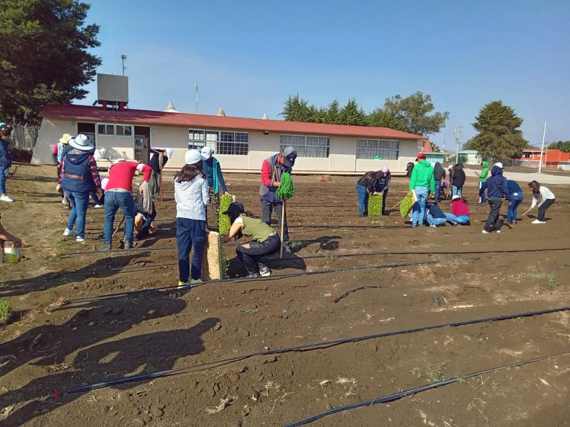
[[[74,254],[101,243],[103,210],[88,210],[86,245],[63,239],[67,212],[54,192],[54,174],[54,167],[17,165],[8,180],[16,201],[0,206],[3,224],[24,241],[20,263],[0,264],[0,297],[14,309],[0,328],[4,426],[280,426],[447,377],[570,352],[570,312],[558,311],[215,363],[267,349],[570,306],[568,186],[549,186],[557,199],[545,225],[531,225],[529,215],[502,234],[481,234],[488,206],[476,203],[474,179],[464,188],[471,226],[411,228],[397,211],[358,217],[355,177],[294,177],[297,193],[288,203],[294,253],[268,260],[275,274],[270,280],[50,308],[61,298],[178,281],[171,182],[167,199],[157,203],[158,233],[138,250]],[[227,175],[226,182],[260,214],[257,175]],[[388,206],[407,185],[406,178],[393,179]],[[449,209],[448,201],[441,203]],[[519,212],[529,205],[525,193]],[[224,250],[229,275],[242,275],[235,243]],[[406,263],[412,264],[386,266]],[[299,272],[314,274],[279,276]],[[63,393],[172,368],[186,369]],[[566,355],[313,425],[565,426],[569,387]]]

